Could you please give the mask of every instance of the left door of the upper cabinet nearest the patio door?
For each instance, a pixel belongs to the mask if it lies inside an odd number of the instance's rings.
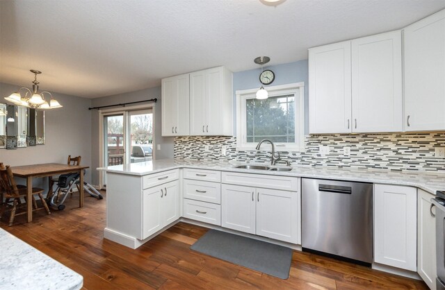
[[[189,74],[161,80],[162,135],[189,134]]]

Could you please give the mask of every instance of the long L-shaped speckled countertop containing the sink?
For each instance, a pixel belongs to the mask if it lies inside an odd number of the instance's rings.
[[[445,173],[433,172],[406,172],[387,171],[383,169],[344,169],[337,167],[293,167],[291,171],[266,171],[254,169],[238,169],[236,165],[247,164],[246,162],[216,160],[153,160],[111,167],[101,167],[103,170],[113,173],[131,174],[144,176],[151,173],[161,172],[177,168],[211,169],[220,171],[232,171],[243,173],[268,174],[277,176],[296,176],[302,178],[321,178],[332,180],[350,180],[359,182],[373,182],[387,185],[405,185],[418,187],[435,194],[437,190],[445,190]],[[249,163],[254,164],[254,163]],[[261,165],[269,165],[261,163]],[[277,166],[279,167],[279,166]]]

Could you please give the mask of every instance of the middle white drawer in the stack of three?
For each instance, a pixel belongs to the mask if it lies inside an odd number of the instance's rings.
[[[208,203],[221,203],[220,182],[184,179],[184,198]]]

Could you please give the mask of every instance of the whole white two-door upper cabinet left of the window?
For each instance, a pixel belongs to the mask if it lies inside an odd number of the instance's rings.
[[[162,135],[233,135],[232,72],[204,69],[162,80]]]

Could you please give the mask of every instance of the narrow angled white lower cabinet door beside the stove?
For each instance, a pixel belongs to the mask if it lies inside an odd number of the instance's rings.
[[[430,289],[436,287],[436,220],[435,208],[431,207],[431,198],[422,189],[417,189],[417,273]]]

